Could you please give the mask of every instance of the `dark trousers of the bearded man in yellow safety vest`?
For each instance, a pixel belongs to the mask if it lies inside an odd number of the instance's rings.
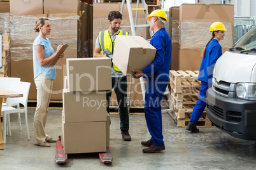
[[[127,98],[127,78],[124,77],[112,77],[112,88],[115,90],[117,95],[117,102],[119,108],[119,117],[120,117],[120,129],[129,130],[129,113],[126,103]],[[110,96],[112,91],[109,90],[106,92],[107,98],[107,112],[110,113]]]

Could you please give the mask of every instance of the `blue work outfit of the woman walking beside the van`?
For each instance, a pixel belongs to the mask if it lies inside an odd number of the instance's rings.
[[[211,88],[213,69],[218,58],[222,55],[222,47],[217,39],[212,39],[206,46],[206,51],[199,70],[198,80],[201,81],[200,98],[197,100],[190,117],[191,122],[197,123],[206,107],[206,91]]]

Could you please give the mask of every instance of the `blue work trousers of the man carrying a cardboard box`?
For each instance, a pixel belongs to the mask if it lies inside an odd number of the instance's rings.
[[[145,118],[148,131],[152,138],[150,141],[154,145],[164,145],[164,136],[162,136],[162,110],[161,101],[166,91],[168,81],[166,80],[146,80],[145,94]]]

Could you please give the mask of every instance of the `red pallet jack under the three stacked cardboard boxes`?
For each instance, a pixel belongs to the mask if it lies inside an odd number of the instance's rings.
[[[103,162],[103,164],[111,164],[112,160],[109,147],[106,148],[106,152],[99,153],[99,161]],[[64,154],[64,148],[61,145],[61,136],[59,136],[56,143],[55,162],[59,165],[68,162],[68,154]]]

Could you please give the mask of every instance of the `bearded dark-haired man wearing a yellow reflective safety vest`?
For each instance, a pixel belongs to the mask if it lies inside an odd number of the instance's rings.
[[[128,32],[120,30],[121,21],[122,14],[119,11],[110,11],[108,14],[108,23],[110,24],[110,28],[99,32],[99,36],[96,39],[94,57],[108,57],[108,53],[113,54],[116,36],[129,35]],[[131,141],[131,135],[129,134],[129,114],[126,103],[127,78],[115,64],[111,64],[112,88],[114,88],[117,95],[122,138],[125,141]],[[106,92],[108,113],[110,112],[110,96],[111,90]]]

